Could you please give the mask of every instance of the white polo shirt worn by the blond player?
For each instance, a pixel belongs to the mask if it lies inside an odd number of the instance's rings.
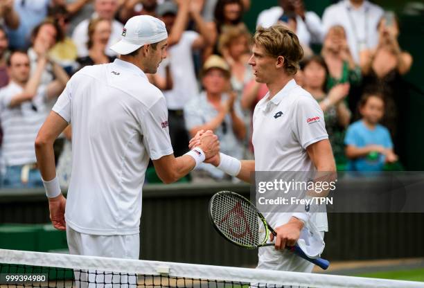
[[[261,99],[253,116],[255,171],[315,171],[306,152],[309,145],[328,139],[324,113],[318,102],[290,80],[271,100]],[[292,213],[263,213],[274,227],[288,222]],[[326,213],[314,213],[310,220],[327,231]]]

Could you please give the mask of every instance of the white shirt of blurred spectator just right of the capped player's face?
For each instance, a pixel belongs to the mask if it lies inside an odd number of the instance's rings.
[[[199,34],[195,31],[184,31],[179,42],[168,49],[173,89],[164,91],[164,96],[170,110],[183,109],[186,102],[199,93],[191,48],[197,37]],[[165,77],[165,65],[159,66],[158,72]]]

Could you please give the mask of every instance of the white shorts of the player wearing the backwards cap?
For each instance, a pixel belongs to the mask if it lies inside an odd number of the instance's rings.
[[[79,233],[67,226],[69,253],[108,258],[139,259],[140,234],[91,235]],[[136,276],[112,275],[110,271],[75,271],[77,288],[136,288]]]

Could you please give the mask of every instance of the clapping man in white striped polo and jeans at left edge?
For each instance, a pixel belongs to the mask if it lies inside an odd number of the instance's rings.
[[[46,118],[46,101],[59,96],[69,80],[58,64],[52,64],[56,80],[41,84],[47,62],[46,53],[39,55],[30,76],[30,59],[25,52],[14,51],[8,58],[10,82],[0,89],[4,188],[42,187],[35,159],[35,136]]]

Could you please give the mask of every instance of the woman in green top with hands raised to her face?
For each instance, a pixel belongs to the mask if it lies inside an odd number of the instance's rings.
[[[341,83],[360,84],[361,69],[353,60],[343,26],[335,25],[328,30],[321,55],[328,67],[327,89]]]

